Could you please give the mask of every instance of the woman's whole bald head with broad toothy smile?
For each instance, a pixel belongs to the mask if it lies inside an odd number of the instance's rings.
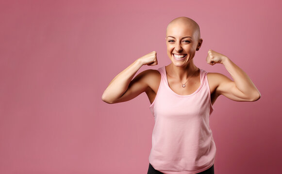
[[[199,26],[187,17],[179,17],[170,22],[166,29],[167,56],[175,66],[186,66],[193,62],[196,51],[199,50]]]

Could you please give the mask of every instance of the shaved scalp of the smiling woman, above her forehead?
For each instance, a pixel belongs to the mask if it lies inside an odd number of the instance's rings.
[[[170,21],[166,27],[166,36],[167,36],[167,29],[171,26],[173,26],[176,23],[182,23],[182,24],[186,24],[189,27],[192,27],[194,29],[195,35],[197,40],[199,40],[201,38],[200,36],[200,28],[199,25],[197,24],[197,22],[195,22],[193,19],[189,18],[189,17],[185,17],[185,16],[181,16],[181,17],[177,17],[175,19],[173,19],[172,21]]]

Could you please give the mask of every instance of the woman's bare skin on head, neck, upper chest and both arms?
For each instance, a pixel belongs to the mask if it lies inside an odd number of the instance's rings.
[[[195,66],[193,58],[196,51],[199,51],[202,41],[198,24],[190,18],[178,17],[167,26],[166,48],[171,63],[166,66],[166,76],[171,90],[179,95],[192,94],[200,86],[199,68]],[[186,56],[178,60],[174,58],[174,54]],[[261,94],[249,76],[228,57],[209,50],[206,61],[210,65],[223,64],[234,80],[221,73],[207,74],[212,104],[220,95],[238,102],[253,102],[260,99]],[[158,92],[161,74],[157,70],[149,69],[137,74],[134,79],[133,76],[143,65],[157,64],[155,51],[136,59],[110,82],[102,95],[102,100],[107,103],[126,102],[146,92],[152,103]],[[185,82],[186,87],[182,87]]]

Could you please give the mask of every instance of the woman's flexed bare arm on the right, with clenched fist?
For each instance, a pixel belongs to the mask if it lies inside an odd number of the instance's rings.
[[[207,62],[211,65],[221,63],[226,70],[231,74],[234,81],[223,74],[213,73],[212,78],[218,82],[216,93],[224,95],[234,101],[257,101],[261,97],[261,93],[250,80],[247,73],[240,69],[228,57],[209,50]]]

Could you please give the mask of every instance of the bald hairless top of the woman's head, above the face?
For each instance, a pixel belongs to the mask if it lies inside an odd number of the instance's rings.
[[[195,36],[195,39],[199,40],[201,38],[199,25],[189,17],[181,16],[170,21],[166,27],[166,37],[167,31],[173,27],[187,27],[194,31],[193,35]]]

